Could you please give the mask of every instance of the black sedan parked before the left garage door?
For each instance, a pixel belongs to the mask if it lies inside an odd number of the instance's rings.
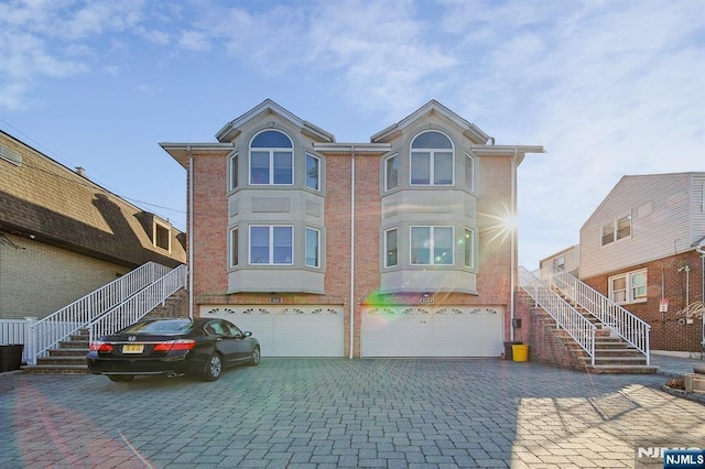
[[[137,375],[199,375],[206,381],[238,363],[257,366],[260,345],[224,319],[145,319],[90,343],[88,370],[116,382]]]

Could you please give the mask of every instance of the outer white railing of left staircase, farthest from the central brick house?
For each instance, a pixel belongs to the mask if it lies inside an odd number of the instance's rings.
[[[165,265],[148,262],[56,313],[32,323],[29,340],[24,343],[28,362],[35,364],[36,358],[47,356],[48,350],[59,341],[85,328],[169,271],[170,268]]]

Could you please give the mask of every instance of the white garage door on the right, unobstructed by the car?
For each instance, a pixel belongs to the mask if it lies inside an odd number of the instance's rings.
[[[362,357],[499,357],[503,308],[379,306],[365,308]]]

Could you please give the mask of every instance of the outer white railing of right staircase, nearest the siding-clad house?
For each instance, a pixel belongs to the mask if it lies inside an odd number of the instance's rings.
[[[649,332],[651,326],[574,275],[554,271],[551,283],[598,318],[606,327],[644,355],[650,364]]]

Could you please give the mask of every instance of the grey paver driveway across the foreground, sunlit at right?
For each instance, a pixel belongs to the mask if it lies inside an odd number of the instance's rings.
[[[705,406],[666,380],[500,360],[265,359],[214,383],[4,374],[0,467],[634,467],[647,440],[705,446]]]

